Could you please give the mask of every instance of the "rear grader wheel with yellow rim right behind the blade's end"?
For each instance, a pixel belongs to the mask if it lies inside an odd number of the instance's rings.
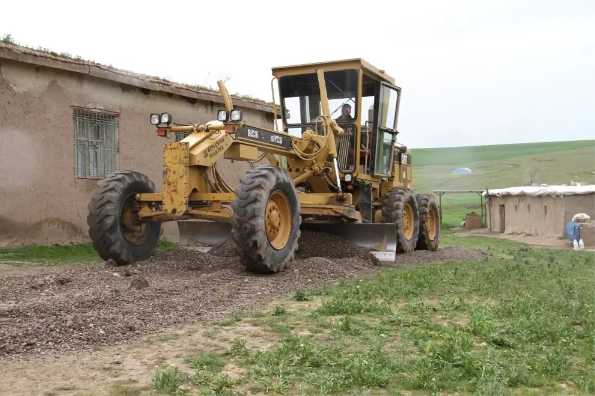
[[[404,224],[407,220],[409,227]],[[395,187],[386,194],[382,201],[382,222],[396,225],[398,253],[415,250],[419,234],[419,212],[417,200],[409,188]]]

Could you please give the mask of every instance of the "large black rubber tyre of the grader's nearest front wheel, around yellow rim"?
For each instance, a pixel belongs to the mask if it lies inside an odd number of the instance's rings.
[[[284,246],[275,249],[267,237],[267,205],[274,194],[287,199],[289,216],[281,222],[290,227]],[[289,268],[300,236],[300,204],[293,180],[284,169],[262,165],[246,172],[231,203],[231,238],[240,262],[252,272],[280,272]],[[289,224],[290,222],[290,224]]]

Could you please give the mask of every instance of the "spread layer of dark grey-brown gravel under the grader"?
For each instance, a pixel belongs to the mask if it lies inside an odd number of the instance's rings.
[[[162,328],[220,318],[291,290],[355,279],[380,264],[333,235],[303,232],[300,245],[292,267],[273,275],[246,271],[230,242],[209,253],[173,249],[124,267],[107,262],[0,274],[0,359],[121,344]],[[397,254],[390,265],[483,257],[475,249],[444,248]]]

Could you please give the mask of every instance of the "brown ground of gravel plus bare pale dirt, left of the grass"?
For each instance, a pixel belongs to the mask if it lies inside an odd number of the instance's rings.
[[[304,232],[292,267],[273,275],[245,271],[229,242],[209,253],[174,249],[124,267],[2,266],[0,394],[104,394],[98,389],[117,381],[150,383],[157,360],[212,345],[201,336],[201,323],[226,313],[361,278],[381,265],[483,257],[480,250],[446,247],[379,263],[339,237]],[[142,341],[173,332],[186,337]]]

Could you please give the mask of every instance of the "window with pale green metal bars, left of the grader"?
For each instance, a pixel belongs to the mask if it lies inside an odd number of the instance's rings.
[[[74,109],[76,177],[102,178],[118,170],[118,116]]]

